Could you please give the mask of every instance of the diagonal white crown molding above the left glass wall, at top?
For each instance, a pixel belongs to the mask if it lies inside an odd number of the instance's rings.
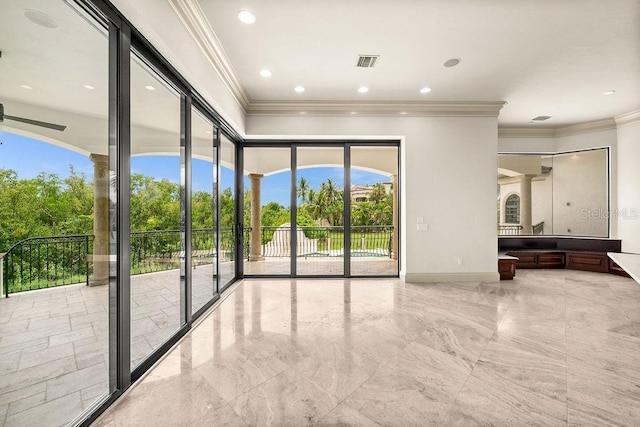
[[[168,0],[183,25],[198,44],[205,57],[209,60],[233,97],[246,111],[249,97],[229,61],[220,40],[214,33],[209,20],[197,0]]]

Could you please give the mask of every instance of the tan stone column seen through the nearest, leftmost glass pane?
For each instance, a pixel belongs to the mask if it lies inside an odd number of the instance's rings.
[[[89,286],[109,283],[109,156],[91,154],[93,162],[93,274]]]

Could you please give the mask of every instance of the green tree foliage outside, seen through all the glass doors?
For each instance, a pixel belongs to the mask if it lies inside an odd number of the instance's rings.
[[[179,230],[180,185],[167,179],[132,174],[131,230]],[[319,189],[300,179],[296,194],[300,199],[297,222],[303,227],[341,226],[344,224],[344,191],[331,179]],[[352,225],[390,225],[392,197],[382,184],[375,184],[365,202],[352,202]],[[243,198],[245,224],[251,215],[251,192]],[[262,225],[278,227],[290,222],[290,209],[270,202],[262,206]],[[213,227],[213,192],[198,191],[192,196],[194,229]],[[231,188],[220,193],[220,225],[231,229],[235,219]],[[93,233],[93,183],[72,166],[69,176],[40,173],[20,179],[16,171],[0,169],[0,251],[20,240],[35,236]],[[224,234],[224,232],[223,232]],[[229,234],[231,236],[231,234]]]

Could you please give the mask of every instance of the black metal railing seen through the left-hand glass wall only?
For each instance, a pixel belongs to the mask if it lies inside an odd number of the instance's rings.
[[[215,249],[212,229],[193,230],[193,265],[211,264],[220,255],[221,262],[235,259],[233,229],[220,230],[220,252]],[[249,256],[251,228],[244,228],[243,257]],[[135,231],[131,233],[131,274],[143,274],[180,268],[184,257],[179,230]],[[12,246],[1,256],[0,282],[6,296],[16,292],[89,283],[93,272],[93,235],[32,237]]]

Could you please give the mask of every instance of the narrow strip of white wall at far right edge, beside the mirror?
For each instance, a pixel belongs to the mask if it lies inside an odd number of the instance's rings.
[[[640,253],[640,121],[618,127],[618,238]]]

